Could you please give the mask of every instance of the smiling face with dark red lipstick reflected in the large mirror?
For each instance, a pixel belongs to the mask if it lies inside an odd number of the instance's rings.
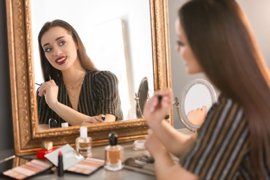
[[[42,36],[41,44],[47,60],[55,69],[66,71],[80,66],[78,46],[66,29],[59,26],[49,29]]]

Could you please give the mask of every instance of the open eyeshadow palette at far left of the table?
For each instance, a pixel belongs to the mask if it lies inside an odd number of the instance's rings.
[[[51,171],[52,164],[37,159],[10,156],[0,161],[1,176],[12,179],[28,179],[42,172]]]

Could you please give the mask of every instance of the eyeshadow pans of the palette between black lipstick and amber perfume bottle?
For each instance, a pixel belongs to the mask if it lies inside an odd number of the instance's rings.
[[[93,172],[96,172],[102,168],[104,163],[105,161],[103,159],[87,157],[83,161],[80,161],[80,163],[71,166],[66,170],[66,172],[73,172],[76,174],[89,176],[90,174],[93,174]]]

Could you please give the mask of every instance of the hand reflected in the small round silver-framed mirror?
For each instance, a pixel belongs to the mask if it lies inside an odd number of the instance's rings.
[[[188,120],[194,125],[201,125],[206,120],[206,106],[188,112]]]

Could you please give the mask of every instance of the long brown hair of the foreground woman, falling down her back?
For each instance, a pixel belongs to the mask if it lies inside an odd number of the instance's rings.
[[[255,175],[263,177],[263,164],[270,167],[269,71],[244,12],[234,0],[192,0],[178,15],[209,80],[242,105],[249,122],[251,164]]]

